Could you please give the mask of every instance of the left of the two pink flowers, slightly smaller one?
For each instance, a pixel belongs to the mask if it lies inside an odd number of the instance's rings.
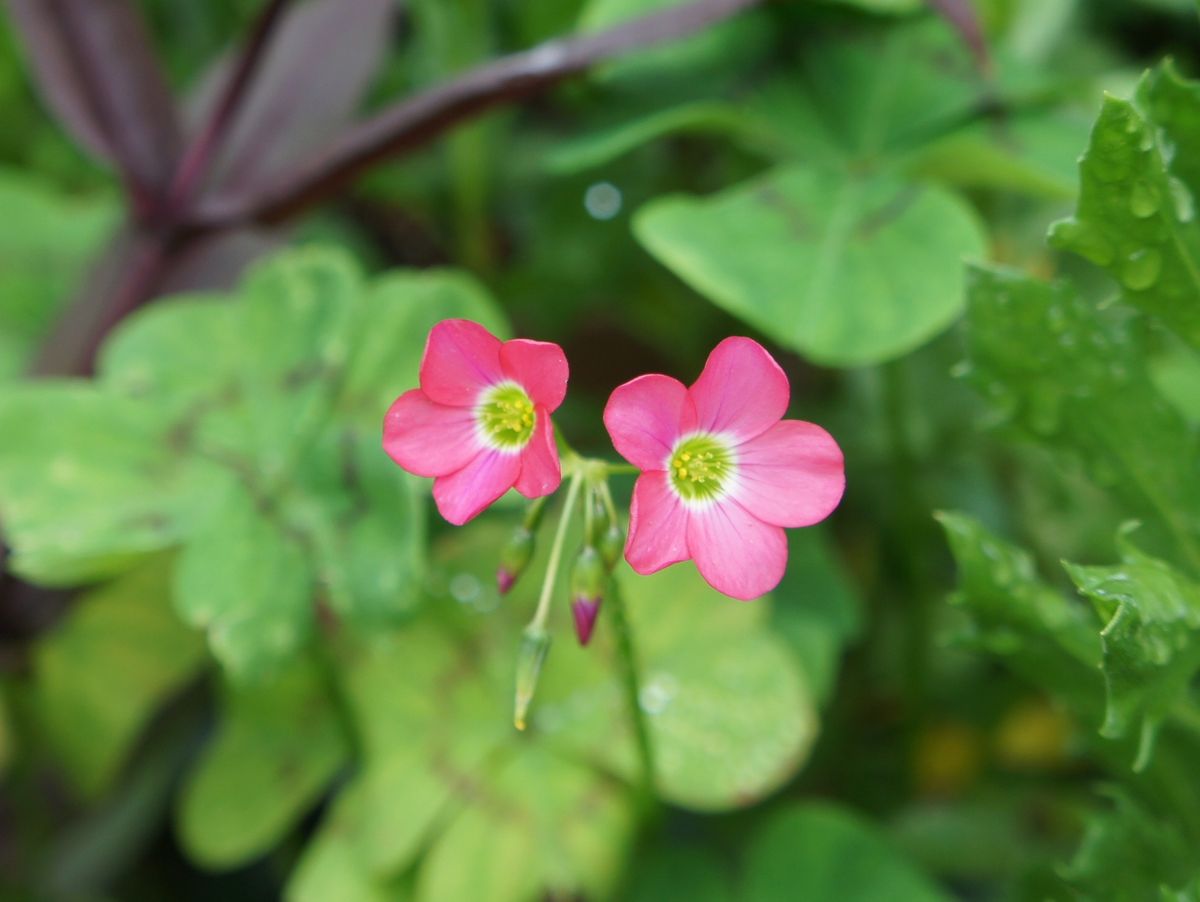
[[[566,357],[550,342],[502,342],[478,323],[433,326],[421,387],[392,403],[383,447],[418,476],[433,476],[438,511],[455,525],[510,488],[526,498],[563,474],[550,415],[566,395]]]

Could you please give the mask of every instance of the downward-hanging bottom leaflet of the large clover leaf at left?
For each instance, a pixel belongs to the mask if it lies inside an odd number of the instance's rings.
[[[179,555],[176,609],[208,632],[238,679],[270,673],[294,655],[316,602],[307,549],[241,488],[227,493]]]

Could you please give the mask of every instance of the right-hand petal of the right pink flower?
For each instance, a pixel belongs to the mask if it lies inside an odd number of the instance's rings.
[[[833,435],[816,423],[782,420],[738,447],[734,497],[776,527],[811,527],[841,500],[846,470]]]

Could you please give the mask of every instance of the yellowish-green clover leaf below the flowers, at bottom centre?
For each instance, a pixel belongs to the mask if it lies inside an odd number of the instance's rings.
[[[301,861],[294,897],[382,892],[422,852],[419,900],[612,892],[635,825],[617,777],[638,778],[612,627],[601,614],[581,649],[558,612],[529,730],[517,733],[514,662],[532,588],[500,603],[492,571],[505,539],[486,524],[448,536],[425,609],[340,648],[362,769]],[[790,777],[815,717],[803,672],[768,629],[769,602],[731,603],[690,567],[619,579],[659,792],[721,810]]]

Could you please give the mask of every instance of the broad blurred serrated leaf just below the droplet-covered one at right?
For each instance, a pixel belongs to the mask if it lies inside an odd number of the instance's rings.
[[[1129,315],[1067,283],[972,271],[968,378],[1006,419],[1080,461],[1092,479],[1200,561],[1195,432],[1159,397]]]

